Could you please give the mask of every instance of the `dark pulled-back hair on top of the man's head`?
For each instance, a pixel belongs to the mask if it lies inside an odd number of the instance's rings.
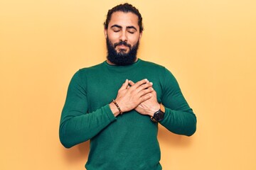
[[[139,25],[139,32],[142,33],[143,31],[143,26],[142,26],[142,15],[139,13],[139,10],[137,8],[135,8],[134,6],[132,6],[131,4],[125,3],[125,4],[119,4],[118,6],[114,6],[114,8],[110,9],[107,12],[107,18],[106,21],[104,23],[104,28],[107,30],[108,24],[110,23],[110,19],[112,16],[112,13],[117,12],[117,11],[121,11],[124,13],[134,13],[138,16],[138,25]]]

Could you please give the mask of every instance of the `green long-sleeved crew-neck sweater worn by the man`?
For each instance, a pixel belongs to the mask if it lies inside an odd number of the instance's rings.
[[[165,106],[160,124],[180,135],[193,135],[196,115],[188,106],[174,76],[164,67],[138,60],[129,66],[102,62],[75,73],[60,119],[60,142],[67,148],[90,140],[87,170],[159,170],[158,123],[129,111],[114,117],[109,103],[125,79],[153,82]]]

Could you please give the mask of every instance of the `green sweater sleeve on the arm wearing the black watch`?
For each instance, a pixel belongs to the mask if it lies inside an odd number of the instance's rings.
[[[160,124],[178,135],[193,135],[196,132],[196,115],[183,97],[175,77],[167,69],[162,82],[161,103],[165,106],[165,114]]]

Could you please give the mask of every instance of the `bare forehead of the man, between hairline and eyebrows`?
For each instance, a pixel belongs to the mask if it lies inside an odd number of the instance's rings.
[[[112,13],[110,18],[109,28],[114,25],[127,27],[127,26],[134,26],[135,28],[139,28],[138,25],[139,18],[136,14],[128,12],[124,13],[121,11],[117,11]]]

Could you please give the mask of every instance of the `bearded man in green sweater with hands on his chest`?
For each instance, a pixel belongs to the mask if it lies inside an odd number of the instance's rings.
[[[121,4],[107,13],[107,61],[80,69],[70,81],[60,141],[90,140],[87,170],[159,170],[159,123],[193,135],[196,116],[166,68],[137,58],[142,16]]]

